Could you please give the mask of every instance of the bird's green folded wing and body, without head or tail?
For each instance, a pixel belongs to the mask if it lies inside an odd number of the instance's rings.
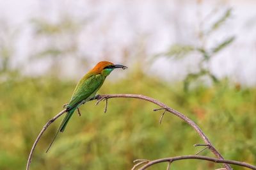
[[[73,108],[83,100],[87,99],[102,86],[104,78],[102,75],[85,75],[78,83],[67,105],[67,108]]]

